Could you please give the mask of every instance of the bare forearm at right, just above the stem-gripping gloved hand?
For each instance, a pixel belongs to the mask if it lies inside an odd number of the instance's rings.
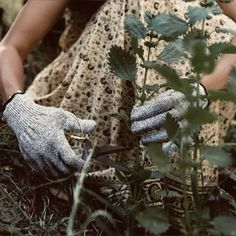
[[[231,41],[236,45],[236,36]],[[214,71],[203,76],[201,83],[207,90],[225,89],[229,79],[230,71],[236,66],[236,54],[224,54],[218,61]]]

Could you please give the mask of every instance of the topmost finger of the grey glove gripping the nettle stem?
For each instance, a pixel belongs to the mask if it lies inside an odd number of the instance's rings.
[[[167,91],[168,92],[168,91]],[[138,121],[150,118],[170,110],[174,101],[183,99],[184,95],[180,92],[169,92],[161,94],[157,98],[148,101],[143,106],[134,107],[131,112],[131,121]]]

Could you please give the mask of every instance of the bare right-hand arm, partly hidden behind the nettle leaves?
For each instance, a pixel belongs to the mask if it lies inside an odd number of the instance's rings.
[[[231,3],[220,3],[219,6],[225,15],[236,21],[236,0]],[[236,36],[233,37],[232,44],[236,45]],[[229,73],[232,67],[236,66],[236,54],[224,54],[217,63],[213,73],[202,78],[202,84],[208,90],[223,89],[227,85]]]

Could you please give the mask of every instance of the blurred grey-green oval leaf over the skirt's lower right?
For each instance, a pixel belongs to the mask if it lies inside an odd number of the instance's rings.
[[[229,167],[232,164],[232,159],[227,152],[222,148],[213,146],[202,146],[200,148],[201,156],[209,162],[220,167]]]

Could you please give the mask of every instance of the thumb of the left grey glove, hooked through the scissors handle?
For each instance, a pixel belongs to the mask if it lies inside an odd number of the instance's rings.
[[[96,122],[94,120],[82,120],[76,117],[74,114],[68,111],[62,111],[66,118],[63,128],[65,130],[81,132],[84,134],[91,133],[95,127]]]

